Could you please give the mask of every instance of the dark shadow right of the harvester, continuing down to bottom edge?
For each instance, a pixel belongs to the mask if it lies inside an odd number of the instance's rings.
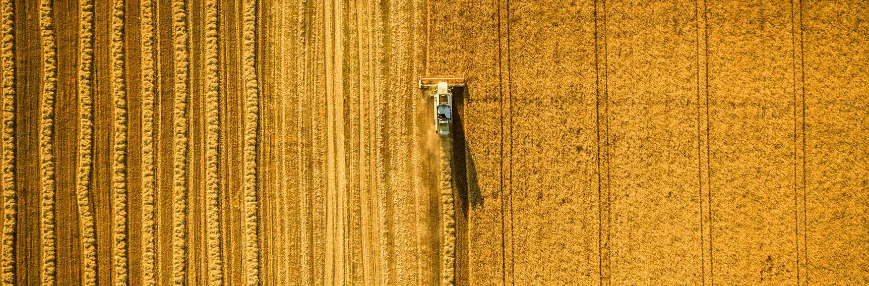
[[[469,272],[469,233],[468,233],[468,207],[476,209],[484,203],[477,183],[477,170],[465,137],[465,126],[462,123],[465,98],[468,98],[468,87],[463,87],[453,93],[453,126],[450,136],[453,142],[451,154],[453,170],[453,186],[455,194],[455,285],[468,285]]]

